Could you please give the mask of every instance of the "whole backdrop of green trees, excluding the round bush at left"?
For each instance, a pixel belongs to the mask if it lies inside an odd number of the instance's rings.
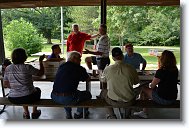
[[[86,33],[97,33],[100,24],[99,6],[63,7],[64,38],[77,23]],[[32,23],[40,34],[51,43],[60,40],[60,7],[25,8],[2,10],[3,27],[21,17]],[[135,45],[179,46],[179,6],[108,6],[107,26],[111,45],[128,41]]]

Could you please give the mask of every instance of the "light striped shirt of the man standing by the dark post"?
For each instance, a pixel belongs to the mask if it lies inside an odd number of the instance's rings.
[[[97,51],[102,52],[102,55],[97,55],[97,58],[109,57],[110,41],[107,35],[102,35],[97,44]]]

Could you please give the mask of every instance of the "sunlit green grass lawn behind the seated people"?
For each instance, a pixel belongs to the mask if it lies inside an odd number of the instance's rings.
[[[56,43],[59,43],[59,42],[56,42]],[[52,46],[52,44],[44,43],[44,47],[42,49],[42,52],[51,52],[51,46]],[[87,48],[91,49],[92,46],[87,45]],[[61,46],[61,49],[63,49],[62,46]],[[147,68],[146,69],[157,69],[157,57],[149,55],[149,50],[150,49],[157,49],[159,51],[172,50],[173,53],[176,56],[178,66],[180,65],[180,47],[134,46],[134,51],[137,52],[137,53],[140,53],[146,59],[146,61],[147,61]],[[6,57],[10,57],[11,52],[6,50],[5,54],[6,54]],[[82,55],[82,61],[81,61],[82,64],[85,63],[85,57],[87,57],[87,56],[90,56],[90,54],[83,54]],[[65,45],[64,45],[64,54],[62,54],[61,57],[66,58],[66,46]],[[28,60],[32,60],[32,59],[35,59],[35,58],[38,58],[38,57],[28,57]],[[111,55],[110,55],[110,59],[111,59],[111,64],[113,64],[114,61],[112,60],[112,56]]]

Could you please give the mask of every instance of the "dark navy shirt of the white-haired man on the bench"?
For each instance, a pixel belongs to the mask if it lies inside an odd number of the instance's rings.
[[[86,69],[73,62],[61,64],[56,73],[53,91],[57,93],[73,93],[77,91],[79,81],[89,77]]]

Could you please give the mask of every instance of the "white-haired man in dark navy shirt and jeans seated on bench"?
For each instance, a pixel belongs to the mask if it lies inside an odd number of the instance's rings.
[[[51,93],[51,98],[53,101],[64,104],[71,105],[77,104],[78,102],[91,99],[91,93],[88,91],[79,91],[77,87],[79,81],[90,80],[86,69],[80,66],[81,55],[79,52],[72,51],[68,54],[68,61],[58,68],[53,91]],[[72,119],[72,109],[70,107],[65,107],[66,118]],[[89,114],[86,109],[86,116]],[[77,112],[74,114],[75,119],[83,117],[83,108],[77,108]]]

